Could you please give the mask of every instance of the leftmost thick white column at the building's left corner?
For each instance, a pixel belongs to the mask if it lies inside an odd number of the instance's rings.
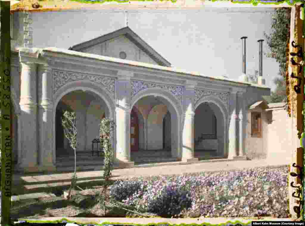
[[[18,168],[31,172],[37,171],[37,92],[36,69],[34,63],[21,63],[20,87],[20,126],[21,126],[21,162]]]

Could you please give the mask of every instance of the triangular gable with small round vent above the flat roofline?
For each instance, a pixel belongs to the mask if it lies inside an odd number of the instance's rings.
[[[171,66],[170,62],[164,59],[129,27],[74,45],[69,49],[160,66]]]

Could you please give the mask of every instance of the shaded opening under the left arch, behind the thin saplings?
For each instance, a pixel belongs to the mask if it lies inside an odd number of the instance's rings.
[[[102,118],[109,117],[106,102],[92,91],[74,90],[63,95],[56,106],[55,150],[56,159],[74,157],[68,139],[64,135],[61,119],[65,111],[73,111],[77,118],[77,155],[90,157],[92,140],[99,137]]]

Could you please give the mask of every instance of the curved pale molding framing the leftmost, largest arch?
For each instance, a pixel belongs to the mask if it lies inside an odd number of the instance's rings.
[[[76,90],[83,90],[83,91],[91,91],[95,93],[99,98],[101,98],[105,103],[109,111],[109,118],[115,120],[115,104],[114,100],[109,96],[108,92],[105,91],[100,86],[94,84],[91,81],[71,81],[61,88],[59,88],[55,95],[53,96],[53,164],[56,164],[56,131],[55,131],[55,117],[56,117],[56,107],[59,101],[63,98],[64,95],[76,91]],[[115,148],[115,138],[113,139],[113,147]]]

